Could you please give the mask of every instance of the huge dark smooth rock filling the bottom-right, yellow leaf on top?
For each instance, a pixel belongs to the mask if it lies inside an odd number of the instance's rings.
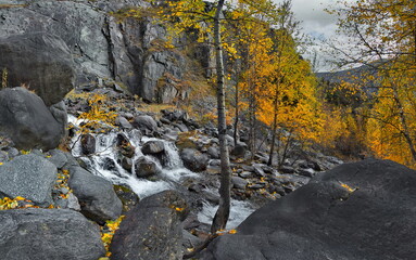
[[[389,160],[340,166],[255,211],[202,259],[414,259],[415,185],[416,171]]]

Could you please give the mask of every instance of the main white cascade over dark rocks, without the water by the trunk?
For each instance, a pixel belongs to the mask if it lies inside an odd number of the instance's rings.
[[[70,122],[74,125],[80,123],[74,116],[70,116],[68,119]],[[174,143],[167,142],[165,140],[146,136],[140,139],[141,134],[138,134],[136,131],[138,130],[131,130],[128,132],[119,132],[113,130],[108,133],[94,134],[96,153],[89,156],[83,155],[79,135],[76,135],[74,136],[72,144],[73,156],[81,158],[92,173],[101,176],[114,184],[128,185],[140,198],[165,190],[174,188],[175,184],[179,183],[180,179],[184,177],[199,177],[197,173],[184,168],[178,154],[178,150]],[[133,161],[136,161],[136,159],[139,157],[144,156],[141,152],[141,146],[143,143],[152,140],[162,141],[164,143],[167,157],[166,167],[162,167],[161,162],[156,158],[147,156],[148,159],[154,161],[161,169],[161,173],[155,178],[156,180],[150,181],[147,179],[137,178],[133,173],[135,172],[135,164],[133,164],[131,171],[127,171],[121,166],[117,158],[117,147],[115,145],[117,134],[119,133],[125,134],[130,141],[131,145],[136,147],[135,155],[131,158]]]

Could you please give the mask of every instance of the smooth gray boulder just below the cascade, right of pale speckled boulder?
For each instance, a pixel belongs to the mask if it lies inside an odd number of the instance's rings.
[[[68,185],[79,200],[81,213],[98,223],[115,220],[122,214],[123,204],[113,184],[80,167],[70,168]]]

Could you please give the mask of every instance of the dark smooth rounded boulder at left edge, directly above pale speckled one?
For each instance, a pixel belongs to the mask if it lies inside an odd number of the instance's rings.
[[[0,134],[17,148],[47,151],[59,145],[65,130],[39,96],[18,87],[0,91]]]

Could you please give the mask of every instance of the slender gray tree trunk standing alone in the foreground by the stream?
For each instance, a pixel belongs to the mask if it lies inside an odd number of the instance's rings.
[[[219,207],[215,213],[211,225],[211,233],[224,230],[230,210],[230,179],[229,154],[226,139],[226,118],[225,118],[225,90],[224,90],[224,63],[223,49],[220,44],[220,15],[225,0],[219,0],[214,17],[214,46],[217,73],[217,109],[218,109],[218,139],[220,156],[220,186],[219,186]]]

